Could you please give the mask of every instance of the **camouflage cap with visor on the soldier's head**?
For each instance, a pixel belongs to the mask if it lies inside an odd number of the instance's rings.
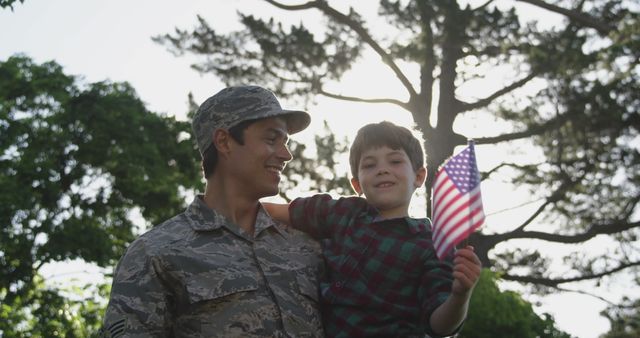
[[[309,125],[311,117],[301,110],[285,110],[276,96],[258,86],[227,87],[204,101],[193,117],[191,127],[198,141],[200,154],[211,146],[216,129],[229,129],[240,122],[283,116],[289,134]]]

